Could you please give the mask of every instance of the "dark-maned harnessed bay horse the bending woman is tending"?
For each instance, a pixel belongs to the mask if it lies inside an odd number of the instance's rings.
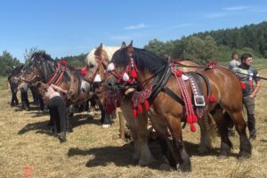
[[[69,108],[72,104],[85,103],[93,95],[90,92],[90,84],[81,77],[80,73],[69,70],[46,53],[33,53],[30,61],[23,68],[21,80],[42,87],[58,85],[69,91],[68,94],[63,95],[66,100],[67,113],[70,113]],[[40,85],[39,82],[42,84]],[[44,95],[43,89],[39,92]],[[69,114],[66,115],[66,128],[71,131]]]

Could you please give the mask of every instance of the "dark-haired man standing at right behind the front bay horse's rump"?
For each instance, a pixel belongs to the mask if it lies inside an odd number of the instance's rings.
[[[250,53],[244,53],[241,56],[241,64],[238,67],[233,68],[233,71],[239,77],[240,85],[242,87],[243,104],[247,109],[249,138],[255,140],[255,96],[256,93],[258,93],[261,84],[257,70],[251,67],[252,62],[252,55]]]

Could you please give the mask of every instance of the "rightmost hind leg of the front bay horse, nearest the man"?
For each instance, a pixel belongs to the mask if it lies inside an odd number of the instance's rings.
[[[246,133],[246,122],[242,115],[242,111],[239,112],[230,112],[231,118],[235,125],[236,130],[239,133],[240,146],[239,146],[239,158],[249,158],[251,156],[252,146],[247,138]]]

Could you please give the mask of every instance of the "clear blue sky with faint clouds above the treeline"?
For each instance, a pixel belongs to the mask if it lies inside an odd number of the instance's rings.
[[[166,42],[263,20],[265,0],[4,0],[0,53],[6,50],[23,62],[23,53],[32,47],[53,58],[132,39],[142,48],[154,38]]]

